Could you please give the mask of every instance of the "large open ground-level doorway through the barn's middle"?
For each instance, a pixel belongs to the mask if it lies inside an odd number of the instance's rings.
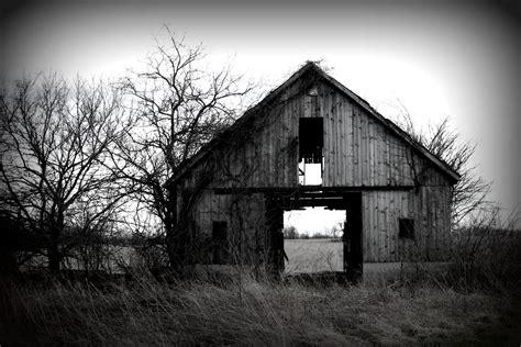
[[[268,195],[266,199],[266,227],[268,232],[269,244],[269,260],[268,264],[273,270],[273,275],[281,272],[343,272],[348,279],[358,280],[362,278],[363,270],[363,247],[362,247],[362,193],[361,192],[339,192],[335,190],[306,190],[292,194],[291,198]],[[319,210],[320,208],[320,210]],[[331,210],[331,211],[330,211]],[[300,212],[303,211],[303,212]],[[313,251],[312,243],[308,242],[303,249],[291,249],[289,242],[285,244],[284,233],[289,235],[291,232],[290,215],[298,215],[299,213],[312,214],[310,211],[315,211],[322,215],[308,215],[303,217],[302,223],[310,225],[319,222],[322,225],[314,231],[303,231],[304,238],[297,238],[303,240],[320,239],[313,238],[320,231],[324,232],[328,228],[328,222],[332,221],[331,227],[335,223],[343,224],[342,238],[337,240],[339,250],[334,250],[334,246],[330,245],[332,256],[329,257],[325,253]],[[332,213],[330,217],[328,213]],[[288,214],[286,214],[288,213]],[[335,217],[332,217],[336,214]],[[287,217],[285,217],[287,215]],[[285,223],[285,220],[287,222]],[[313,221],[313,222],[312,222]],[[344,221],[342,223],[342,221]],[[325,233],[325,232],[324,232]],[[331,234],[330,232],[329,234]],[[289,239],[289,237],[286,237]],[[293,237],[295,239],[295,237]],[[295,242],[293,242],[295,243]],[[334,243],[334,240],[332,242]],[[296,243],[295,243],[296,244]],[[315,242],[319,244],[319,242]],[[302,243],[302,245],[304,245]],[[295,245],[293,245],[295,246]],[[293,247],[299,248],[299,247]],[[307,249],[306,249],[307,248]],[[324,248],[324,247],[322,247]],[[328,247],[325,247],[328,249]],[[309,250],[311,249],[311,251]],[[289,251],[289,255],[288,255]],[[311,255],[311,256],[307,256]],[[306,259],[308,258],[308,259]],[[287,267],[287,271],[286,270]]]

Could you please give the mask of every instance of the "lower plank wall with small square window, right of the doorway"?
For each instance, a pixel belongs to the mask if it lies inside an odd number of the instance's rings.
[[[442,261],[448,257],[450,190],[363,193],[364,261]],[[398,219],[414,220],[414,239],[398,237]]]

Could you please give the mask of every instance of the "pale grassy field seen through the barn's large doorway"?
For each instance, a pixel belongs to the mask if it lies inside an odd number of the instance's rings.
[[[320,272],[343,270],[343,244],[330,238],[285,239],[288,256],[286,272]]]

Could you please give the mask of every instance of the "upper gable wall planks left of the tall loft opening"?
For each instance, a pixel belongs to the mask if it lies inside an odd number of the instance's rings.
[[[195,189],[212,176],[209,188],[291,188],[298,186],[298,116],[302,99],[287,90],[255,121],[226,138],[188,172],[181,187]],[[297,123],[296,123],[297,122]]]

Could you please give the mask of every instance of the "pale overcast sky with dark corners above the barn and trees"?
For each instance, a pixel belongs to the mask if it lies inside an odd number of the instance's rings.
[[[117,77],[163,25],[202,43],[215,66],[267,89],[306,60],[384,115],[400,100],[420,125],[450,116],[475,141],[477,172],[506,212],[520,205],[519,12],[495,1],[19,1],[2,11],[3,77],[58,70]],[[370,3],[370,4],[368,4]]]

